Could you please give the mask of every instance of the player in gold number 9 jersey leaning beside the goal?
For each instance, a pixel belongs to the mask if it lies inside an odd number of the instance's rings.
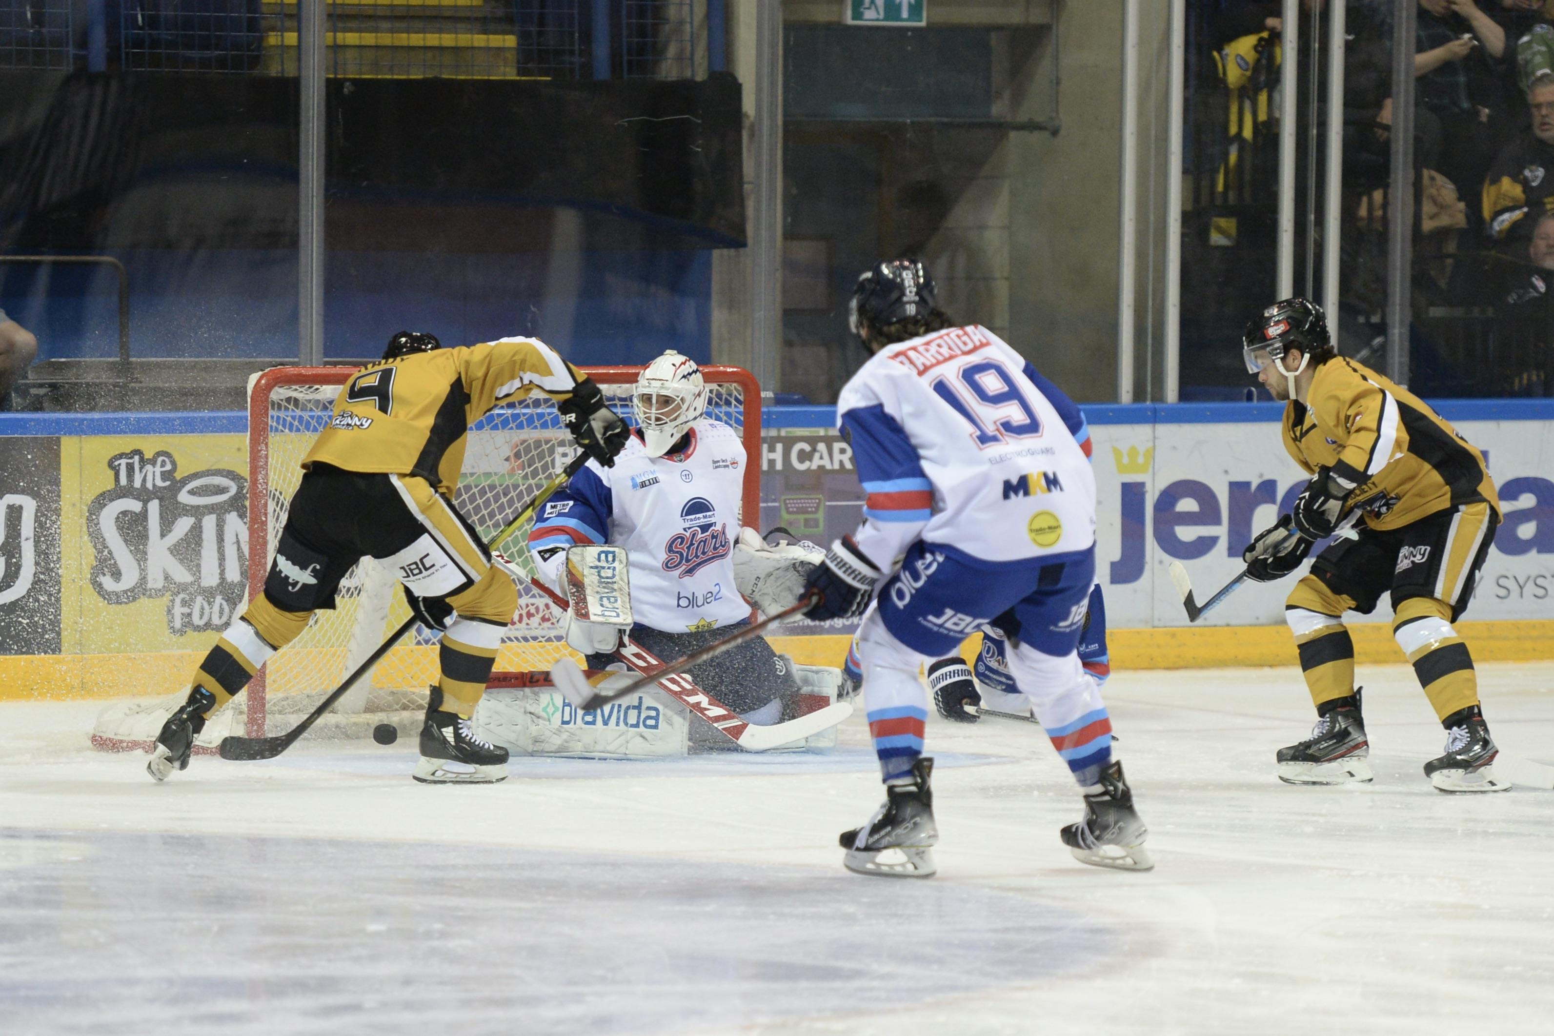
[[[264,592],[249,603],[194,673],[188,701],[157,735],[148,772],[185,769],[205,721],[264,662],[295,640],[314,610],[334,607],[351,565],[371,556],[404,584],[421,623],[441,629],[441,676],[421,730],[424,783],[493,783],[507,750],[474,736],[517,590],[454,508],[471,424],[500,402],[542,391],[578,446],[612,464],[629,430],[592,379],[533,339],[444,349],[429,334],[399,332],[384,359],[340,390],[301,466]]]

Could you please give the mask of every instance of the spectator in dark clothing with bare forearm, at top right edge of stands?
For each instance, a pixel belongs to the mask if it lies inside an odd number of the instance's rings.
[[[1414,81],[1417,109],[1441,121],[1436,171],[1472,193],[1507,127],[1504,112],[1492,124],[1495,84],[1503,76],[1506,33],[1473,0],[1419,0]],[[1473,75],[1470,75],[1473,73]],[[1475,96],[1478,95],[1478,96]]]

